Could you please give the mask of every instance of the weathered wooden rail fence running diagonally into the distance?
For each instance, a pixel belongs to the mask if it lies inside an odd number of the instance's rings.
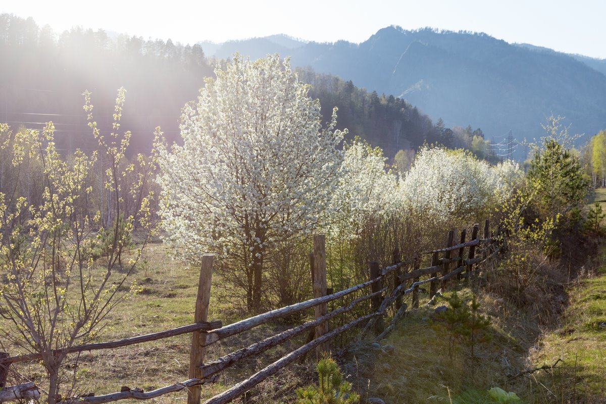
[[[198,404],[201,396],[201,385],[205,383],[216,382],[219,374],[224,369],[235,365],[242,359],[254,357],[266,351],[273,346],[284,343],[305,331],[315,330],[314,338],[310,342],[295,349],[291,353],[271,363],[271,365],[261,369],[257,373],[248,377],[248,379],[236,384],[215,397],[208,399],[204,404],[222,404],[231,402],[236,397],[241,396],[254,386],[258,385],[267,377],[277,373],[290,363],[295,362],[300,357],[305,356],[312,349],[316,351],[316,357],[322,351],[330,349],[330,340],[344,333],[355,326],[364,326],[362,334],[373,330],[376,340],[385,337],[392,331],[398,319],[401,318],[407,305],[402,303],[402,297],[411,294],[413,308],[419,305],[419,286],[424,283],[430,284],[430,298],[435,296],[438,286],[445,290],[449,285],[453,285],[455,280],[470,277],[477,273],[479,265],[493,259],[504,248],[503,244],[497,243],[499,237],[489,236],[489,223],[485,220],[483,237],[479,237],[479,225],[473,225],[470,240],[466,240],[466,231],[459,234],[459,242],[454,242],[454,230],[448,232],[447,242],[444,248],[439,250],[427,251],[425,254],[431,254],[431,264],[426,268],[419,268],[417,262],[413,265],[411,271],[403,273],[408,269],[409,264],[401,262],[398,251],[393,254],[393,265],[385,268],[379,268],[377,262],[370,262],[370,279],[359,285],[351,286],[336,293],[327,294],[326,281],[326,255],[324,247],[324,236],[314,236],[313,253],[310,254],[311,277],[313,282],[314,298],[305,302],[285,306],[258,316],[250,317],[239,322],[222,326],[220,321],[207,321],[208,302],[210,299],[210,285],[213,269],[213,256],[205,255],[202,257],[202,266],[200,271],[198,296],[196,298],[196,311],[194,324],[181,326],[178,328],[161,331],[159,333],[147,334],[144,336],[131,337],[113,342],[90,343],[87,345],[72,346],[67,348],[67,353],[79,353],[82,351],[93,351],[95,349],[118,348],[120,346],[133,345],[136,343],[147,342],[177,336],[185,333],[192,333],[191,355],[189,379],[170,386],[165,386],[152,391],[144,392],[139,388],[123,387],[121,391],[102,396],[73,397],[65,399],[62,404],[101,404],[123,399],[152,399],[170,392],[182,391],[187,389],[188,404]],[[442,256],[442,257],[441,257]],[[389,282],[385,282],[389,281]],[[383,284],[392,285],[388,290]],[[347,305],[342,305],[335,310],[328,311],[328,302],[353,294],[356,291],[367,290],[370,293],[351,300]],[[343,313],[352,311],[359,303],[365,300],[371,301],[370,313],[363,314],[344,325],[335,329],[328,328],[328,320]],[[396,314],[392,317],[390,324],[385,327],[384,316],[388,308],[395,303]],[[207,346],[225,339],[230,336],[242,333],[258,325],[270,322],[281,317],[290,316],[303,310],[313,308],[315,318],[301,325],[275,334],[259,342],[253,343],[246,348],[226,354],[214,360],[204,362],[205,350]],[[16,386],[5,386],[8,367],[11,363],[24,362],[28,360],[39,360],[42,355],[39,353],[25,354],[19,356],[8,356],[6,353],[0,353],[0,403],[17,399],[38,399],[39,391],[34,383],[28,382]]]

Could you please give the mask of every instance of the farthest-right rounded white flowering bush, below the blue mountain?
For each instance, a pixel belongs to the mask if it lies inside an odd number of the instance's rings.
[[[405,204],[437,220],[470,220],[488,214],[510,196],[517,164],[491,167],[462,150],[424,146],[402,179]]]

